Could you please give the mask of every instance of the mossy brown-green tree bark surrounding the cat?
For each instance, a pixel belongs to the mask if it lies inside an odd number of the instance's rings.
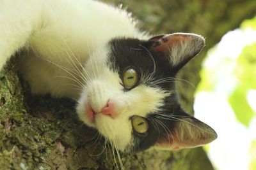
[[[206,38],[204,50],[179,73],[197,85],[200,64],[211,46],[256,13],[256,1],[110,1],[124,3],[151,33],[194,32]],[[118,155],[104,152],[103,139],[83,125],[76,103],[31,96],[19,79],[15,57],[0,73],[0,169],[118,169]],[[180,102],[193,113],[195,88],[177,83]],[[207,113],[205,113],[207,114]],[[93,138],[94,137],[94,138]],[[213,169],[202,148],[175,152],[147,150],[121,155],[125,169]]]

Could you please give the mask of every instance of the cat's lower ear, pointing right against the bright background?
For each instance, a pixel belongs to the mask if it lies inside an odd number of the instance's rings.
[[[179,122],[173,131],[159,139],[156,148],[164,150],[178,150],[210,143],[217,138],[216,132],[209,125],[190,115],[179,117]]]

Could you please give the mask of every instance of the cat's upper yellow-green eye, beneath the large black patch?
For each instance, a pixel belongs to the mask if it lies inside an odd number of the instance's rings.
[[[123,75],[125,89],[132,89],[138,82],[138,73],[134,68],[126,69]]]

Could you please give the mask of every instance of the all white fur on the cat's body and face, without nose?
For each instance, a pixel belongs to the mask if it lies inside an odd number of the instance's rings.
[[[147,38],[123,10],[88,0],[2,0],[0,25],[0,69],[22,50],[19,69],[31,92],[74,97],[79,118],[120,150],[132,145],[129,118],[147,116],[168,95],[145,85],[124,92],[118,74],[106,66],[109,39]],[[86,104],[99,112],[108,99],[118,117],[97,114],[92,124]]]

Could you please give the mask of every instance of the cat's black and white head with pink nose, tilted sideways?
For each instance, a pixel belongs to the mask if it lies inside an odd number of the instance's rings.
[[[196,34],[116,38],[86,63],[77,113],[122,152],[204,145],[217,135],[179,104],[175,75],[204,47]]]

